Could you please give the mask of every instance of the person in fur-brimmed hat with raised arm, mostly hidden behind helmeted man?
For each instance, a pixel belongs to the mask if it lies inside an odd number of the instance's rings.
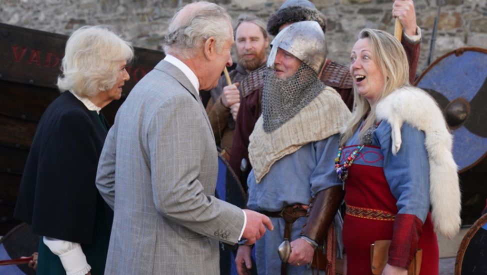
[[[392,15],[399,18],[403,26],[401,44],[406,51],[409,62],[409,81],[413,83],[419,59],[421,30],[416,25],[416,15],[412,0],[394,0]],[[270,15],[267,22],[267,31],[271,35],[276,35],[286,25],[304,20],[318,22],[323,33],[325,32],[326,18],[314,7],[313,3],[308,0],[286,0],[276,12]],[[241,81],[240,85],[242,97],[233,134],[231,149],[233,153],[230,155],[228,162],[237,176],[242,178],[242,182],[246,181],[245,178],[251,168],[248,165],[248,137],[261,113],[261,79],[263,70],[264,68],[262,67],[252,71]],[[326,59],[318,75],[324,84],[333,87],[340,94],[345,104],[351,109],[353,104],[353,81],[348,72],[348,66]]]

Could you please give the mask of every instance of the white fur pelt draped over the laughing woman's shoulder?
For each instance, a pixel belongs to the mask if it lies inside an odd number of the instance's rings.
[[[407,86],[380,100],[376,114],[377,120],[385,119],[391,125],[393,154],[401,146],[402,123],[424,131],[424,145],[429,158],[431,216],[436,231],[451,239],[458,233],[461,224],[461,195],[457,166],[451,153],[453,138],[443,113],[426,92]]]

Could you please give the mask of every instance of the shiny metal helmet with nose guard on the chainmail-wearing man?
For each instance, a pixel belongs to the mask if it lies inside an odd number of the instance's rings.
[[[319,74],[328,53],[323,30],[316,21],[292,23],[279,31],[270,44],[272,49],[267,58],[268,67],[274,65],[277,48],[281,48]]]

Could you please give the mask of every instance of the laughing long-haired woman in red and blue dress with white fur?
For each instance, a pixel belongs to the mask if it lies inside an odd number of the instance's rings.
[[[442,112],[409,84],[406,54],[385,31],[359,33],[350,73],[355,102],[335,159],[345,188],[347,272],[370,274],[370,244],[390,240],[382,274],[406,274],[418,248],[420,274],[437,274],[434,231],[452,237],[460,225],[452,137]]]

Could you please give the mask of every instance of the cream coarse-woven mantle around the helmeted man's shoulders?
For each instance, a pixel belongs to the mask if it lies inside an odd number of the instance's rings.
[[[297,151],[304,144],[338,133],[349,117],[350,111],[331,87],[325,87],[296,115],[271,132],[264,131],[260,115],[248,144],[248,158],[255,181],[260,182],[275,161]]]

